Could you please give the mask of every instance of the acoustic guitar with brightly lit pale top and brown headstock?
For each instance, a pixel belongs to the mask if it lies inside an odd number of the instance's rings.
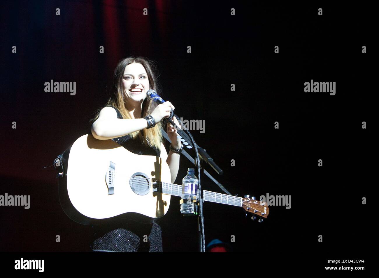
[[[60,166],[61,206],[81,224],[117,218],[149,223],[167,213],[171,196],[182,195],[182,185],[171,183],[170,169],[162,158],[133,154],[92,134],[78,138],[55,160],[55,166]],[[262,201],[206,190],[203,196],[205,201],[242,207],[264,218],[269,214]]]

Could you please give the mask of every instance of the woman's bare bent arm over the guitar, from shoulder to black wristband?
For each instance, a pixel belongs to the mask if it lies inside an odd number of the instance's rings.
[[[117,112],[112,107],[104,107],[99,118],[92,124],[93,137],[108,140],[121,137],[147,127],[147,121],[141,119],[118,119]]]

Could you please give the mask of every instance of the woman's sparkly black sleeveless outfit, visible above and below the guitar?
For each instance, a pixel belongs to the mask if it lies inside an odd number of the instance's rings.
[[[122,119],[120,111],[117,118]],[[143,135],[143,130],[141,130]],[[132,138],[129,134],[112,139],[125,149],[139,155],[160,156],[160,149],[151,145],[146,138],[147,146],[140,138]],[[143,136],[143,140],[145,137]],[[92,226],[91,250],[105,252],[163,252],[162,231],[155,220],[152,224],[142,224],[132,220],[118,220],[111,224],[100,224]],[[144,242],[144,235],[148,236],[148,242]]]

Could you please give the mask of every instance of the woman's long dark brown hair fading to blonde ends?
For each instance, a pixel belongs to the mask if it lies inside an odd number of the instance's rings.
[[[108,103],[106,104],[106,106],[111,105],[111,106],[116,107],[120,111],[124,119],[132,119],[132,118],[125,107],[125,102],[124,102],[125,101],[124,99],[125,88],[122,83],[122,78],[124,76],[125,67],[133,63],[139,63],[143,65],[143,67],[146,70],[147,77],[149,79],[150,89],[157,91],[158,95],[160,94],[159,83],[157,82],[157,67],[155,66],[153,61],[145,57],[135,58],[133,56],[121,59],[120,62],[117,64],[116,69],[114,70],[114,78],[113,78],[113,84],[114,84],[114,89],[115,89],[114,94],[108,100]],[[150,115],[155,109],[155,107],[157,106],[158,106],[157,103],[146,98],[142,104],[142,117],[141,118],[147,115]],[[100,110],[97,112],[96,117],[92,119],[92,123],[96,121],[96,119],[99,117]],[[152,127],[150,129],[143,129],[143,133],[145,137],[149,138],[152,146],[155,146],[158,149],[160,149],[161,142],[162,142],[161,127],[162,127],[161,122],[159,122],[155,124],[155,127]],[[146,140],[143,140],[142,134],[140,131],[141,130],[138,130],[136,132],[131,133],[130,135],[133,138],[136,138],[138,136],[144,142],[144,144],[148,145]]]

